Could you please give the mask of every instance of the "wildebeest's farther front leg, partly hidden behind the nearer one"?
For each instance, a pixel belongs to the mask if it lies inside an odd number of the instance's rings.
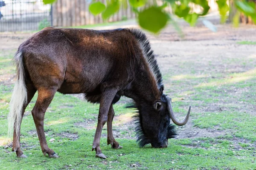
[[[108,122],[107,122],[108,139],[107,139],[107,142],[108,142],[108,144],[111,144],[112,148],[121,149],[122,146],[119,145],[118,142],[116,142],[116,140],[114,139],[114,136],[113,136],[112,121],[113,121],[114,116],[115,116],[115,112],[114,112],[114,109],[113,109],[113,105],[111,105],[110,108],[109,108],[109,111],[108,111]]]

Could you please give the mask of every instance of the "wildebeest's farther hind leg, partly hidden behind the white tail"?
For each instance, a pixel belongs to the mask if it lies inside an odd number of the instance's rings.
[[[31,82],[26,82],[26,88],[27,88],[27,103],[23,105],[22,117],[21,117],[19,125],[21,125],[21,121],[24,116],[24,112],[25,112],[27,105],[29,104],[29,102],[31,101],[31,99],[33,98],[33,96],[35,95],[35,92],[36,92],[36,89],[32,85]],[[16,126],[16,125],[14,125],[14,126]],[[16,129],[16,128],[14,127],[14,129]],[[17,157],[26,158],[26,155],[24,155],[20,149],[20,127],[19,127],[17,133],[16,133],[16,130],[14,130],[14,132],[13,132],[12,151],[16,152]]]

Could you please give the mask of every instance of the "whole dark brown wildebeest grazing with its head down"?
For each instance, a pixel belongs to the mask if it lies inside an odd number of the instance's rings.
[[[17,82],[10,102],[9,130],[14,128],[13,148],[17,157],[26,157],[20,149],[20,124],[24,110],[38,91],[32,109],[41,149],[57,158],[49,149],[44,134],[44,113],[53,96],[84,93],[85,99],[100,103],[98,124],[92,150],[106,158],[99,142],[107,122],[108,144],[122,148],[112,133],[113,104],[121,96],[134,100],[138,111],[137,141],[142,147],[167,147],[175,136],[174,126],[185,125],[174,116],[171,99],[163,94],[160,70],[145,34],[137,29],[95,31],[70,28],[44,28],[23,42],[15,54]]]

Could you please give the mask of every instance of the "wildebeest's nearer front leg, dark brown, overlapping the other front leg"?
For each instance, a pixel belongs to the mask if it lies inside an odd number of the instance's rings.
[[[98,116],[98,125],[96,128],[96,133],[93,139],[93,148],[92,150],[96,151],[96,157],[106,159],[107,157],[102,153],[99,142],[100,136],[102,133],[102,128],[108,120],[108,111],[113,101],[114,96],[116,95],[117,89],[106,89],[101,97],[99,105],[99,116]]]

